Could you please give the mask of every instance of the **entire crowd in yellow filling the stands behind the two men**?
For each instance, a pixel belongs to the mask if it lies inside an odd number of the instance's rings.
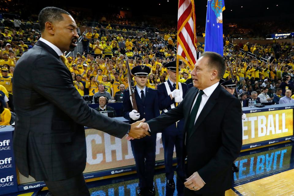
[[[8,75],[5,75],[3,73],[6,71],[3,69],[1,77],[13,78],[13,69],[17,60],[32,48],[41,36],[40,31],[32,29],[31,26],[22,29],[19,22],[21,21],[7,20],[6,24],[9,25],[0,29],[0,66],[8,70]],[[108,27],[110,28],[111,26]],[[123,89],[128,87],[125,54],[128,56],[130,68],[136,65],[146,65],[151,68],[148,87],[156,89],[158,83],[168,79],[167,70],[163,65],[175,60],[176,34],[167,32],[163,39],[164,41],[158,38],[151,39],[146,34],[134,37],[90,31],[83,35],[84,53],[68,57],[64,59],[64,62],[72,73],[74,86],[82,96],[94,96],[98,93],[114,99],[117,92],[123,92]],[[231,47],[228,40],[228,36],[224,38],[223,55],[234,74],[232,76],[228,67],[223,78],[229,80],[235,77],[240,95],[242,95],[241,99],[251,98],[254,91],[260,98],[263,98],[262,102],[278,104],[279,101],[276,99],[287,96],[287,90],[294,90],[293,43],[280,44],[273,40],[272,44],[262,46],[240,42]],[[198,43],[199,57],[204,47]],[[239,49],[243,49],[244,53]],[[252,57],[248,55],[248,52],[256,56]],[[190,79],[193,68],[194,65],[184,62],[181,65],[179,80],[186,82]],[[10,88],[5,83],[0,82],[0,84],[6,89]],[[12,90],[9,93],[12,95]],[[8,107],[13,111],[11,103]]]

